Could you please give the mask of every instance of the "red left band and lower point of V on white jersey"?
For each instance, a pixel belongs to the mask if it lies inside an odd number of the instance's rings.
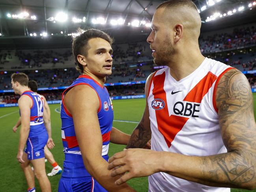
[[[164,136],[164,140],[170,148],[175,136],[183,128],[189,118],[175,115],[169,116],[166,92],[164,91],[164,79],[165,73],[154,77],[152,94],[154,95],[154,99],[160,98],[165,103],[163,109],[155,110],[155,116],[157,119],[158,130]]]

